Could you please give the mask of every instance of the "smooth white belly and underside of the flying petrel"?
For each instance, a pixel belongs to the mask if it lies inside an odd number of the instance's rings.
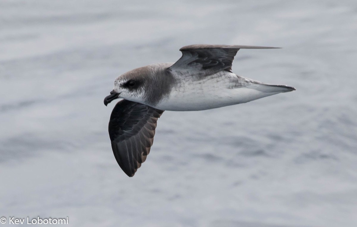
[[[208,110],[249,102],[281,92],[259,91],[255,89],[257,86],[264,85],[257,85],[252,80],[227,71],[196,81],[192,81],[192,77],[187,77],[155,108],[173,111]]]

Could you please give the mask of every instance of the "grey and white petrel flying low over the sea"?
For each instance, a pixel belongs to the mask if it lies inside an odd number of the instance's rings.
[[[109,137],[116,161],[129,177],[146,160],[157,119],[165,110],[208,110],[295,90],[263,84],[232,72],[239,49],[276,47],[190,45],[175,63],[140,67],[117,77],[104,104],[121,98],[110,116]]]

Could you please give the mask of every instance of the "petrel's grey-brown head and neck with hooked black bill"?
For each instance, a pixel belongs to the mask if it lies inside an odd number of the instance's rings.
[[[170,76],[166,69],[172,63],[154,64],[126,72],[114,81],[114,89],[105,97],[104,104],[122,98],[143,104],[154,104],[167,93]]]

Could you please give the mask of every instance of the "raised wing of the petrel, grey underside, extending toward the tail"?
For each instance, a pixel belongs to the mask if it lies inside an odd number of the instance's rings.
[[[208,76],[221,70],[231,71],[239,49],[273,49],[278,47],[237,45],[190,45],[180,49],[182,57],[169,67],[176,75]]]

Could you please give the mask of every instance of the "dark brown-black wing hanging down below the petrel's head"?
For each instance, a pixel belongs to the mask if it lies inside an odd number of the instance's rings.
[[[129,177],[146,160],[163,110],[128,100],[119,101],[110,116],[109,137],[116,161]]]

